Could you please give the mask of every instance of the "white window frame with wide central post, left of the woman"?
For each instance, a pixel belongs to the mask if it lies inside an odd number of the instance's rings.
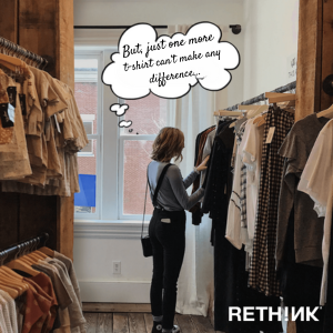
[[[99,59],[98,75],[102,77],[102,71],[110,63],[110,57],[117,51],[117,47],[101,46],[79,46],[74,47],[75,59]],[[111,92],[111,93],[110,93]],[[150,140],[153,141],[157,134],[123,134],[118,127],[121,118],[110,111],[110,105],[121,103],[121,100],[112,93],[110,87],[98,80],[98,130],[95,134],[88,135],[88,139],[97,141],[97,208],[95,213],[75,213],[75,222],[87,223],[142,223],[142,213],[123,214],[123,147],[125,140]],[[111,129],[111,130],[110,130]],[[103,148],[109,147],[108,151]],[[115,158],[114,158],[115,157]],[[111,170],[111,173],[110,173]],[[142,199],[143,200],[143,199]],[[150,195],[148,193],[148,200]],[[151,219],[145,214],[145,223]]]

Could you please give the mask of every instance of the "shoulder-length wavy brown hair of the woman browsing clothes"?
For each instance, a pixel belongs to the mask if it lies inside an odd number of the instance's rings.
[[[159,162],[169,162],[172,158],[175,161],[183,160],[184,134],[175,128],[163,128],[160,130],[152,145],[151,159]]]

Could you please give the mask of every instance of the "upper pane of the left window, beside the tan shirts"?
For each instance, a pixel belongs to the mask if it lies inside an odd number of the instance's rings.
[[[91,123],[91,129],[85,129],[87,134],[97,133],[98,111],[98,60],[75,59],[75,100],[82,120]],[[87,124],[88,125],[88,124]]]

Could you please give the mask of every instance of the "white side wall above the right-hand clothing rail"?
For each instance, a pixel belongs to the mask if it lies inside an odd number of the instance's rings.
[[[297,52],[299,0],[244,0],[243,100],[290,82],[286,62]]]

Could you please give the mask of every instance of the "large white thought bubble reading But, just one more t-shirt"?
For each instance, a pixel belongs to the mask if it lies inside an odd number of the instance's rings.
[[[232,79],[229,70],[240,64],[238,49],[221,38],[222,31],[211,22],[199,22],[186,34],[172,37],[158,37],[148,23],[134,24],[122,33],[102,81],[128,100],[150,92],[180,98],[196,83],[206,90],[221,90]]]

